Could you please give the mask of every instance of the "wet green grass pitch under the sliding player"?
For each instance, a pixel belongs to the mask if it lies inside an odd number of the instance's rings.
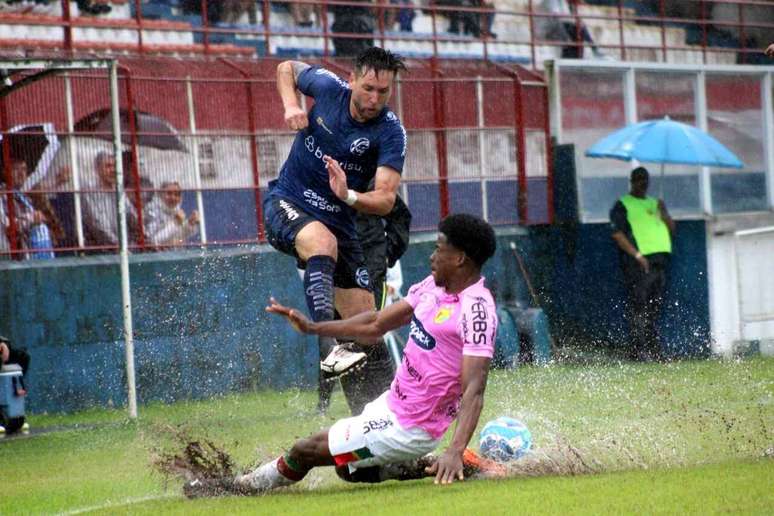
[[[284,391],[141,406],[138,421],[121,410],[32,416],[34,429],[56,431],[0,441],[0,514],[774,510],[774,359],[762,358],[493,372],[482,424],[518,417],[538,450],[570,443],[593,475],[353,486],[323,469],[271,496],[189,501],[150,466],[154,450],[173,446],[170,428],[248,466],[347,414],[340,393],[328,416],[314,406],[314,393]]]

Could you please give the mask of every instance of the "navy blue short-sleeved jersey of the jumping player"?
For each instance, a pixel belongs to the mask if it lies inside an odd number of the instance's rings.
[[[349,112],[349,85],[324,68],[307,68],[299,74],[297,84],[302,93],[314,98],[314,106],[309,126],[296,134],[271,195],[295,201],[326,226],[354,237],[356,211],[331,190],[322,158],[328,155],[338,161],[349,188],[365,192],[377,167],[403,171],[406,130],[386,107],[368,122],[354,120]]]

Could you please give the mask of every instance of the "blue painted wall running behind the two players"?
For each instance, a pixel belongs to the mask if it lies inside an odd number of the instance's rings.
[[[434,247],[432,237],[415,240],[401,260],[406,288],[429,273]],[[499,301],[527,304],[511,241],[559,344],[624,341],[624,291],[606,224],[501,234],[484,274]],[[316,385],[316,339],[263,312],[270,295],[304,306],[293,260],[256,247],[135,255],[130,268],[141,403]],[[706,273],[703,222],[680,222],[663,320],[673,355],[708,353]],[[32,356],[30,412],[125,404],[116,257],[5,262],[0,285],[0,333]]]

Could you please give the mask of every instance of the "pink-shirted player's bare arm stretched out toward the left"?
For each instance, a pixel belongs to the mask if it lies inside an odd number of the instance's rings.
[[[295,308],[284,306],[273,297],[266,311],[285,317],[301,333],[323,337],[353,338],[362,343],[377,342],[376,339],[390,330],[411,322],[413,308],[406,301],[393,303],[378,312],[367,311],[340,321],[312,322]]]

